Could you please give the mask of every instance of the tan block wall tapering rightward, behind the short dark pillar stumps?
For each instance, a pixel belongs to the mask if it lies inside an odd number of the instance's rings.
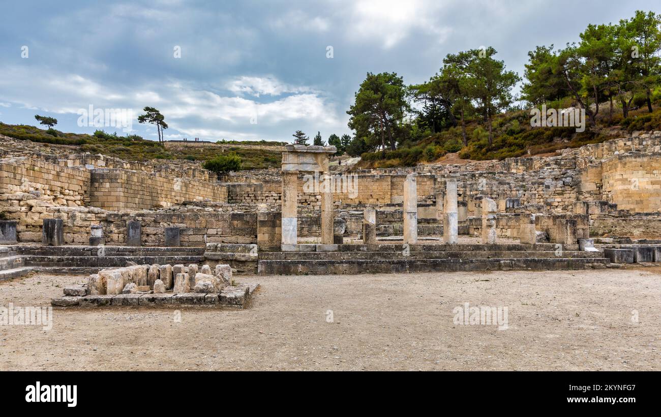
[[[227,202],[227,187],[158,173],[120,169],[91,171],[90,205],[93,207],[139,210],[204,199]]]

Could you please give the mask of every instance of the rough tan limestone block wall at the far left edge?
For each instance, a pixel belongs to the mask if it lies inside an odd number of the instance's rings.
[[[87,171],[31,158],[0,161],[1,206],[19,207],[36,201],[34,205],[79,207],[87,202],[89,185]]]

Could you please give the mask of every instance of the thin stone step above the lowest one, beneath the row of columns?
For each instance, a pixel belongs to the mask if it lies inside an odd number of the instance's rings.
[[[552,259],[552,258],[594,258],[595,252],[563,251],[411,251],[403,252],[260,252],[263,261],[280,260],[341,260],[341,259]],[[599,254],[602,256],[601,254]]]

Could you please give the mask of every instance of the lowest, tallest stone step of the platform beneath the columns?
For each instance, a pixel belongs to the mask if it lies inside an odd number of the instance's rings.
[[[555,259],[343,259],[320,262],[259,261],[262,275],[426,273],[458,271],[557,271],[605,267],[605,258]]]

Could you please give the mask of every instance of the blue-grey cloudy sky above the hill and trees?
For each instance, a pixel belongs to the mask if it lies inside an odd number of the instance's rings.
[[[326,140],[350,133],[346,110],[368,71],[414,84],[447,53],[493,46],[522,75],[535,46],[564,46],[588,23],[650,9],[637,0],[111,3],[3,1],[0,121],[35,125],[40,113],[61,131],[93,133],[79,110],[135,118],[153,106],[170,125],[166,139],[291,141],[301,129]],[[157,138],[135,120],[132,129]]]

